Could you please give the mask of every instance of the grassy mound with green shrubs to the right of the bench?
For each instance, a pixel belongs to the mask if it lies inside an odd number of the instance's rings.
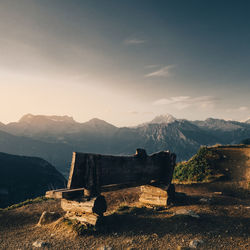
[[[176,182],[212,180],[249,182],[250,147],[247,145],[201,147],[190,160],[177,164]]]

